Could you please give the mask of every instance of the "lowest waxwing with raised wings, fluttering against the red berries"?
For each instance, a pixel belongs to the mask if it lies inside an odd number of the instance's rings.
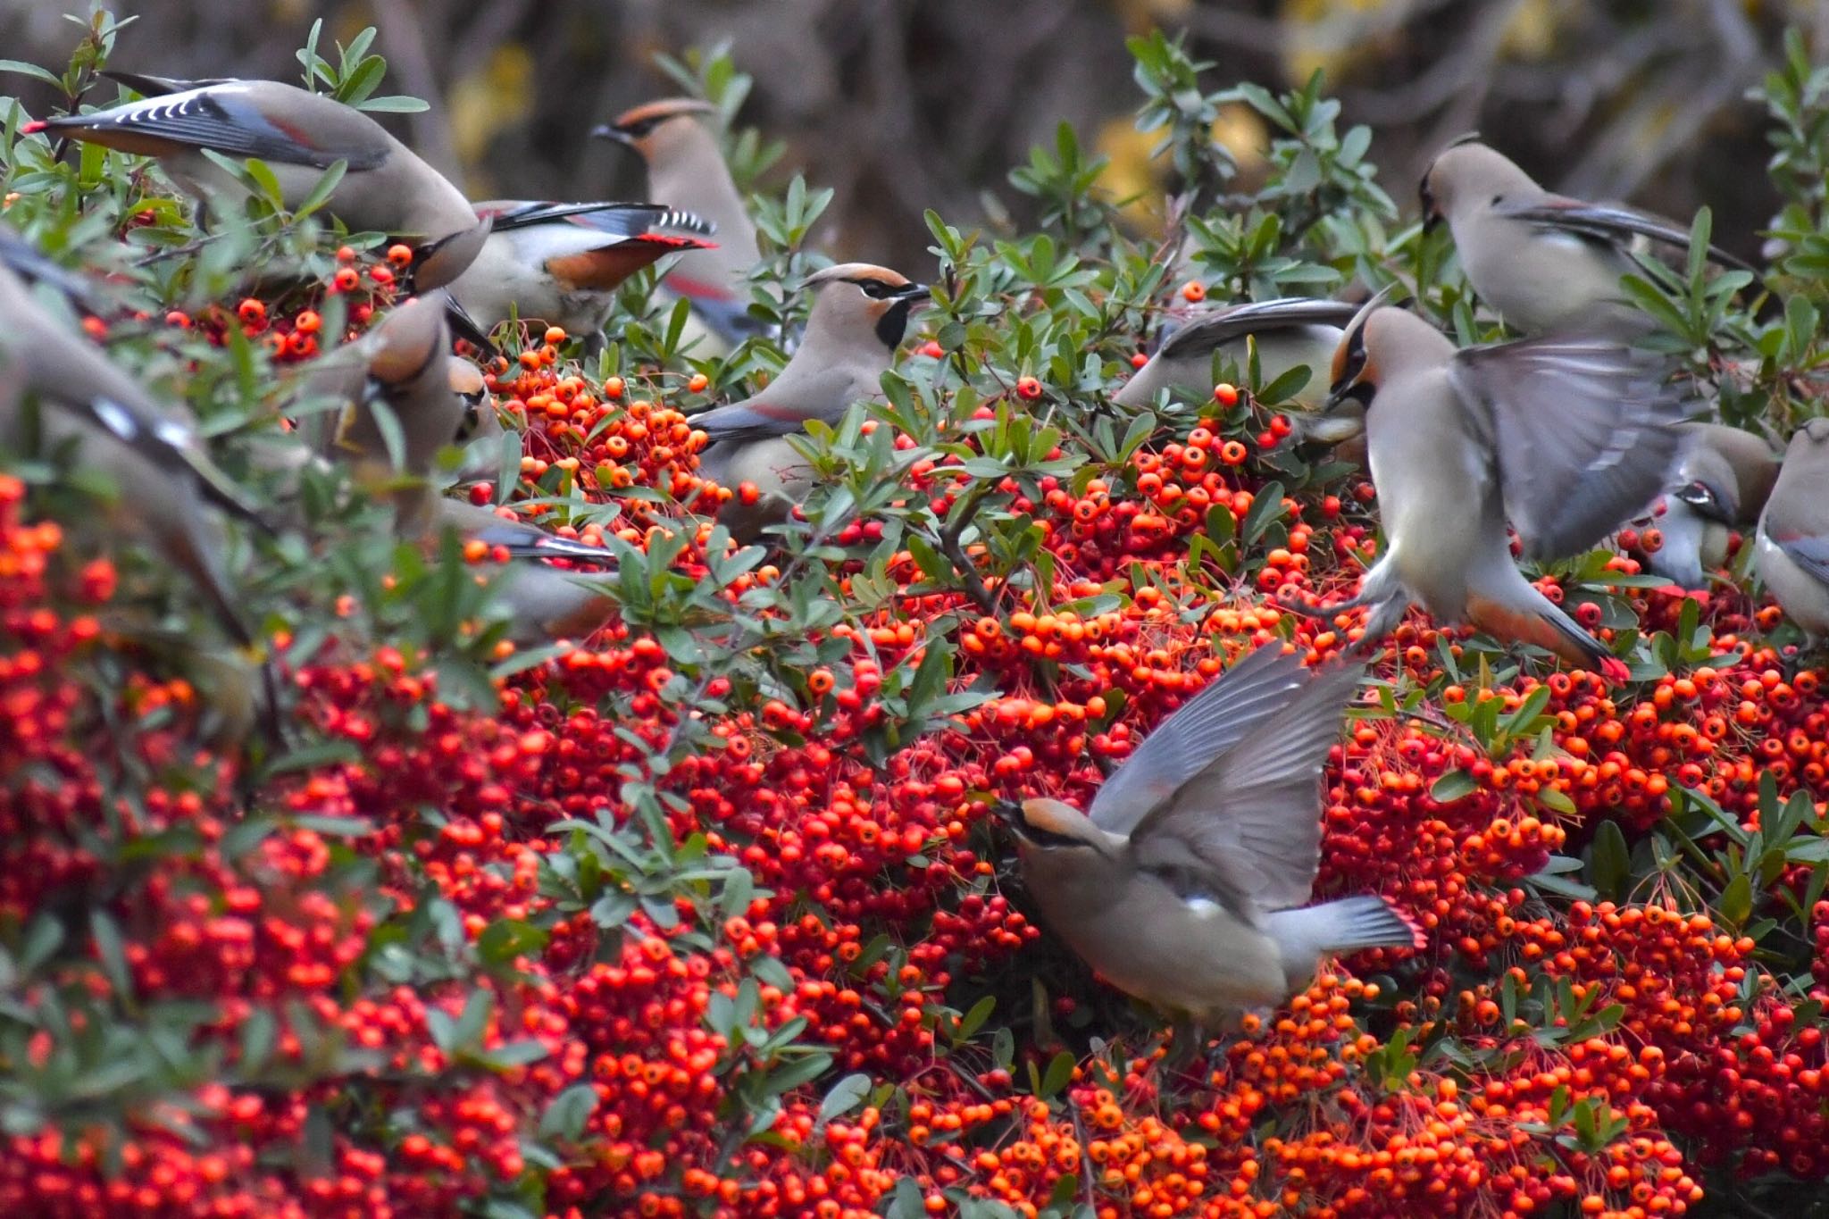
[[[1088,811],[1024,800],[1022,883],[1055,934],[1119,991],[1202,1025],[1282,1003],[1322,956],[1423,947],[1383,897],[1308,905],[1321,769],[1361,673],[1310,676],[1260,647],[1156,727]]]

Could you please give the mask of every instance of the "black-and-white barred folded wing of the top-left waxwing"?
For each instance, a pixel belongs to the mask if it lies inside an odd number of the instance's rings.
[[[46,119],[53,132],[115,132],[190,148],[210,148],[230,157],[260,157],[280,164],[324,170],[344,161],[351,170],[371,170],[386,148],[371,144],[309,143],[296,128],[280,126],[236,82],[183,93],[150,97],[112,110]],[[351,111],[355,113],[355,111]]]

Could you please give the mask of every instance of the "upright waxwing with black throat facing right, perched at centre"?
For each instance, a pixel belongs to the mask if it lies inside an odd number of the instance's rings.
[[[710,439],[699,453],[699,473],[739,492],[719,512],[739,541],[754,541],[805,497],[812,472],[788,437],[810,419],[838,422],[852,402],[882,393],[909,313],[927,296],[927,285],[871,263],[827,267],[805,287],[814,291],[812,314],[781,375],[759,395],[690,420]],[[748,503],[744,482],[757,490]]]

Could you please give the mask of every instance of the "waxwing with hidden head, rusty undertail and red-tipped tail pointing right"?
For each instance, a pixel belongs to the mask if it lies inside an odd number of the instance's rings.
[[[624,280],[668,254],[715,249],[702,239],[710,221],[655,203],[490,201],[476,214],[490,234],[450,294],[485,331],[514,314],[596,334]]]

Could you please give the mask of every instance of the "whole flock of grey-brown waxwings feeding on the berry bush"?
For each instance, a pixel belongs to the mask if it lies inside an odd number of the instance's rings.
[[[538,559],[602,561],[600,550],[435,484],[441,450],[501,431],[454,334],[481,338],[510,318],[598,333],[616,285],[666,256],[662,291],[691,303],[701,351],[759,333],[748,313],[755,230],[708,126],[715,111],[657,101],[598,128],[644,157],[664,203],[472,203],[329,97],[271,80],[113,77],[141,97],[22,130],[150,155],[199,197],[236,190],[205,154],[262,159],[287,207],[342,164],[327,210],[413,249],[417,296],[311,366],[304,397],[337,409],[309,415],[282,461],[340,462],[358,486],[393,499],[402,530],[428,539],[457,530],[505,552],[516,638],[578,638],[598,625],[607,598]],[[1299,435],[1363,446],[1385,530],[1383,557],[1355,598],[1291,607],[1326,616],[1370,607],[1344,658],[1311,673],[1278,647],[1258,649],[1150,733],[1088,811],[1059,800],[1006,810],[1026,885],[1063,939],[1119,989],[1200,1023],[1280,1003],[1326,954],[1419,947],[1416,925],[1383,897],[1310,905],[1321,769],[1370,651],[1410,605],[1626,676],[1525,579],[1513,532],[1527,556],[1556,559],[1657,512],[1664,546],[1653,568],[1699,588],[1728,530],[1756,526],[1758,568],[1780,605],[1807,631],[1829,631],[1829,504],[1818,493],[1829,420],[1805,424],[1780,461],[1763,439],[1701,419],[1705,408],[1666,364],[1635,344],[1652,322],[1620,289],[1637,267],[1631,243],[1685,245],[1688,232],[1546,192],[1472,141],[1434,161],[1421,203],[1425,225],[1445,219],[1452,230],[1474,292],[1522,338],[1456,349],[1386,292],[1363,305],[1216,307],[1183,322],[1114,395],[1205,398],[1214,353],[1244,367],[1255,351],[1266,382],[1328,369],[1326,391],[1319,376],[1299,391]],[[60,316],[60,296],[82,300],[79,280],[0,232],[0,355],[18,373],[0,380],[13,395],[0,402],[0,426],[18,440],[26,395],[68,408],[44,411],[44,439],[73,442],[84,464],[112,475],[132,525],[245,640],[221,570],[223,517],[273,523],[212,464],[183,406],[154,400]],[[807,287],[812,313],[786,367],[759,395],[693,417],[710,437],[702,473],[743,488],[715,504],[739,541],[805,497],[812,473],[790,439],[880,393],[927,296],[867,263],[829,267]]]

